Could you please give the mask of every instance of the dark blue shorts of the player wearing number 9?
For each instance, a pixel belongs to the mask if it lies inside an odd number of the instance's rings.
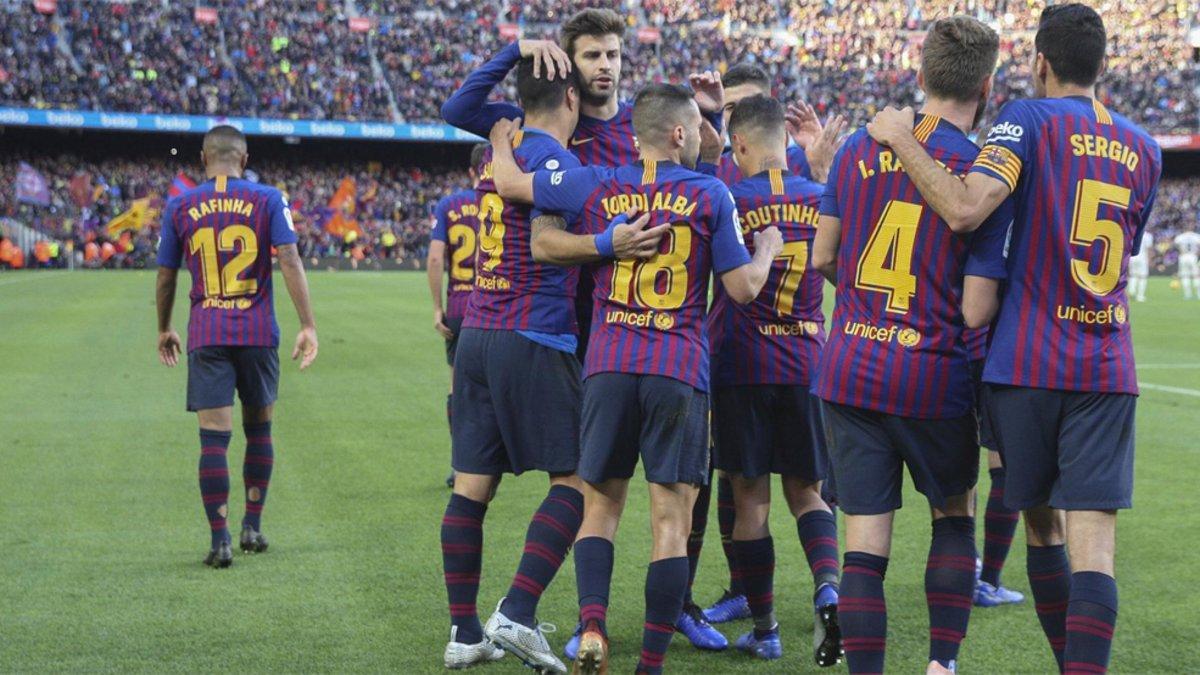
[[[455,471],[575,473],[580,362],[515,330],[464,328],[454,369]]]

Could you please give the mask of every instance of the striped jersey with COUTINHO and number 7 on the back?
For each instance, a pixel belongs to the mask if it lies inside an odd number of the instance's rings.
[[[809,256],[824,185],[768,169],[730,191],[750,252],[752,234],[770,226],[784,235],[784,252],[750,304],[734,303],[716,282],[708,316],[713,386],[806,386],[824,344],[824,277],[812,269]]]

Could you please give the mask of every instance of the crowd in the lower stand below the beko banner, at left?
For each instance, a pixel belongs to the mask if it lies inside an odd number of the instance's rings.
[[[23,162],[46,179],[49,204],[17,199],[14,186]],[[362,261],[424,259],[433,204],[467,181],[464,172],[354,161],[299,166],[265,161],[251,169],[259,181],[278,186],[288,196],[306,258],[316,262],[344,256],[355,265]],[[86,265],[145,267],[154,257],[158,228],[154,214],[161,210],[179,171],[178,162],[166,160],[91,162],[73,155],[6,154],[0,160],[0,185],[6,186],[0,190],[0,220],[23,222],[67,245],[61,250],[64,255],[54,256],[44,267],[66,265],[68,251],[76,251]],[[193,178],[199,179],[196,173]],[[349,237],[325,227],[335,211],[330,201],[346,178],[354,179],[356,186],[350,219],[358,231]],[[144,197],[151,198],[151,210],[142,227],[109,233],[107,225]],[[35,251],[25,255],[28,267],[32,267]]]

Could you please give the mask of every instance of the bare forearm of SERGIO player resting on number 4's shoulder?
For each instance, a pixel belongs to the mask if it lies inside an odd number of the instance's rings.
[[[875,115],[866,131],[876,142],[892,148],[920,196],[953,232],[974,231],[1013,191],[1014,185],[1009,185],[979,172],[971,172],[965,178],[950,174],[917,142],[912,125],[912,108],[888,107]]]

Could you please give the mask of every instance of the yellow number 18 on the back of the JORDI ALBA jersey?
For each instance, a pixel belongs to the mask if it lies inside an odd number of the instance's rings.
[[[672,225],[670,233],[670,247],[665,253],[660,252],[648,261],[617,261],[612,269],[610,300],[629,306],[632,289],[640,306],[654,310],[677,310],[683,306],[688,295],[691,228],[686,225]]]

